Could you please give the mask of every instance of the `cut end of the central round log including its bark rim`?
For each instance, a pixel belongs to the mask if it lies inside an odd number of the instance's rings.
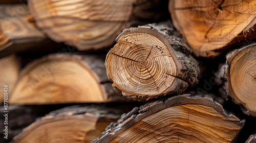
[[[186,81],[177,75],[181,63],[170,39],[161,31],[145,26],[130,28],[116,40],[105,66],[114,87],[125,97],[145,101],[186,89]]]

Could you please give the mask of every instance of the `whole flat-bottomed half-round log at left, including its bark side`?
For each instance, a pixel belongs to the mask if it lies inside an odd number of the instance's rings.
[[[10,94],[12,104],[127,101],[111,87],[105,56],[51,54],[27,64]]]

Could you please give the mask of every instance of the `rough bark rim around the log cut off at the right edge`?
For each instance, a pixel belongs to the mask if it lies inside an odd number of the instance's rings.
[[[231,97],[232,101],[236,104],[238,104],[241,107],[241,110],[247,114],[247,115],[252,115],[252,116],[256,116],[256,113],[249,111],[243,104],[241,104],[242,102],[237,98],[237,97],[232,97],[230,96],[230,90],[232,90],[232,87],[229,87],[230,84],[230,80],[229,80],[229,70],[230,70],[230,65],[233,61],[233,59],[243,50],[251,47],[251,46],[256,46],[256,43],[252,43],[249,45],[246,45],[244,47],[241,47],[240,49],[234,50],[230,53],[227,54],[226,56],[226,63],[223,64],[220,68],[220,70],[218,71],[218,73],[216,73],[216,77],[217,77],[217,84],[219,85],[223,85],[220,89],[219,92],[221,94],[221,96],[225,99],[228,100],[228,97]],[[230,89],[231,88],[231,89]]]

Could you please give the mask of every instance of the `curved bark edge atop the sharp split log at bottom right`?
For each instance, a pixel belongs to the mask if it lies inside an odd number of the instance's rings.
[[[210,99],[209,97],[202,97],[200,95],[190,96],[190,94],[183,94],[181,96],[162,99],[155,102],[146,103],[140,107],[135,107],[129,113],[123,114],[117,123],[111,123],[105,129],[106,131],[103,132],[99,138],[96,138],[92,142],[108,142],[137,122],[141,121],[146,116],[152,115],[172,106],[185,104],[199,104],[211,107],[218,111],[220,114],[224,115],[227,120],[232,121],[234,124],[237,124],[241,128],[245,123],[245,120],[240,120],[233,114],[227,113],[219,103],[213,101],[213,99]]]

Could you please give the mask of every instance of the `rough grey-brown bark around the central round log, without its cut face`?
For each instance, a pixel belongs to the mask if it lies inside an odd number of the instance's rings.
[[[199,75],[200,75],[200,67],[196,59],[194,59],[193,56],[191,56],[191,50],[188,46],[183,43],[181,38],[181,35],[179,35],[178,31],[174,28],[172,22],[170,20],[159,22],[159,23],[152,23],[147,24],[145,26],[138,26],[137,28],[129,28],[122,31],[122,33],[119,34],[119,36],[116,38],[116,42],[118,42],[119,38],[126,34],[126,33],[133,33],[134,31],[137,32],[146,32],[150,33],[152,36],[157,37],[160,39],[169,50],[170,55],[173,56],[173,59],[175,60],[177,64],[177,77],[175,79],[175,82],[178,84],[175,88],[173,86],[170,86],[173,89],[173,92],[168,92],[168,94],[180,94],[182,93],[187,86],[194,86],[199,81]],[[106,59],[108,59],[109,54],[106,56]],[[105,61],[105,66],[107,65],[107,60]],[[113,77],[111,70],[107,70],[107,75],[109,79],[113,82]],[[121,88],[119,88],[118,85],[115,83],[112,85],[115,89],[122,91]],[[169,87],[169,88],[170,88]],[[166,89],[168,90],[168,88]],[[166,91],[165,90],[165,91]],[[137,95],[133,93],[125,93],[122,92],[123,96],[132,100],[138,100],[138,101],[148,101],[152,98],[157,98],[161,96],[166,96],[167,93],[161,93],[155,97],[144,97],[143,95]],[[131,98],[133,96],[133,98]]]

